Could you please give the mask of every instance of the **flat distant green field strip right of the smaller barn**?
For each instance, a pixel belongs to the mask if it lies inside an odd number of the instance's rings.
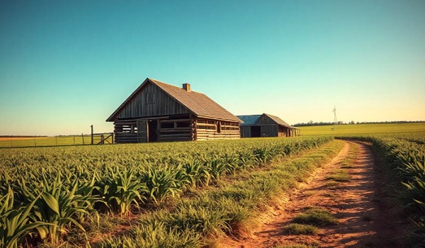
[[[351,135],[378,133],[425,133],[425,123],[317,125],[300,127],[302,135]],[[333,130],[332,130],[333,129]]]

